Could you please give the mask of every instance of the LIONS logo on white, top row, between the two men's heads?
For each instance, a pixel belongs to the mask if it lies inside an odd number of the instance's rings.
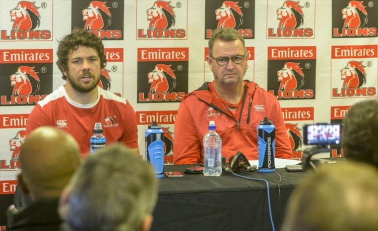
[[[142,4],[146,1],[137,4]],[[181,8],[187,7],[182,2],[173,1],[155,1],[152,2],[152,6],[148,6],[145,11],[145,20],[147,21],[148,29],[137,29],[137,39],[184,39],[186,37],[186,30],[183,25],[176,25],[177,17],[182,19],[185,17],[186,12],[183,12]],[[145,6],[145,5],[143,5]],[[142,11],[138,11],[138,28],[142,28]],[[147,17],[146,17],[147,15]],[[187,17],[186,17],[187,18]]]

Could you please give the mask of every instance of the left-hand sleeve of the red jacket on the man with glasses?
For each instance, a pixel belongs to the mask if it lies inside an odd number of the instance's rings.
[[[173,162],[175,165],[200,163],[200,157],[200,139],[192,114],[183,101],[174,122]]]

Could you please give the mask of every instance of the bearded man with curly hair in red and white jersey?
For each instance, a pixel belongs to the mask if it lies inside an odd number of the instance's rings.
[[[39,101],[30,113],[26,134],[41,126],[70,133],[80,145],[81,156],[90,151],[95,123],[101,123],[106,144],[120,142],[139,156],[135,111],[127,99],[98,86],[106,65],[102,41],[93,33],[75,28],[59,41],[56,62],[67,83]],[[114,123],[104,120],[111,117]]]

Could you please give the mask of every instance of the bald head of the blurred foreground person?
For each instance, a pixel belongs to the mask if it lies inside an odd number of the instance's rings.
[[[58,197],[80,164],[80,148],[68,133],[41,127],[26,138],[20,164],[21,181],[33,200]]]

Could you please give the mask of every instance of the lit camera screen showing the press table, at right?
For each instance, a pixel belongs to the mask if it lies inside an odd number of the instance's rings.
[[[306,145],[339,145],[340,125],[307,125],[303,139]]]

